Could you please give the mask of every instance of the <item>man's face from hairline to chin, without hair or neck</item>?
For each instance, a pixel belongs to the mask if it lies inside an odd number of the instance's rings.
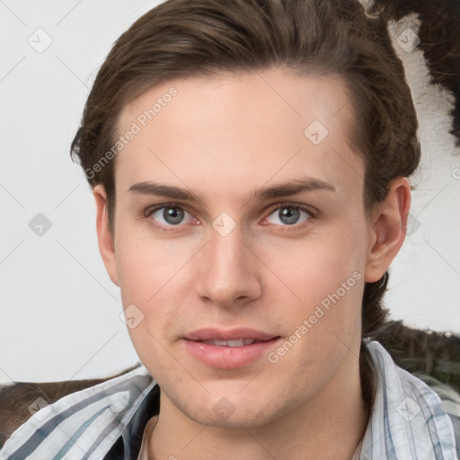
[[[376,240],[351,123],[340,77],[279,68],[170,81],[121,112],[136,133],[104,261],[162,408],[257,426],[358,376]]]

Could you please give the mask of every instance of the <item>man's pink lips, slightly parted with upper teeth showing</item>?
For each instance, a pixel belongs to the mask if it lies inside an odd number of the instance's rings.
[[[201,329],[182,340],[186,352],[207,367],[234,369],[249,367],[267,358],[281,340],[279,335],[247,328],[234,330]]]

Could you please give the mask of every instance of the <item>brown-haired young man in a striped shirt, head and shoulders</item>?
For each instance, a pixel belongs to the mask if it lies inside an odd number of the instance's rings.
[[[73,145],[144,367],[53,404],[0,458],[456,458],[437,394],[363,341],[385,320],[416,129],[358,3],[146,13]]]

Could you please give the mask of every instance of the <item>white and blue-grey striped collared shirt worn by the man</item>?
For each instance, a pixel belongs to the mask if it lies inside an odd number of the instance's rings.
[[[428,385],[396,366],[380,343],[366,346],[376,367],[376,400],[355,458],[456,460],[458,419]],[[144,459],[144,433],[155,426],[159,398],[158,385],[141,365],[42,407],[5,442],[0,460]]]

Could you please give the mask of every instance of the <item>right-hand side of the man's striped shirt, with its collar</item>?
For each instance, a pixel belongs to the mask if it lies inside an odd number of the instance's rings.
[[[378,341],[367,343],[367,349],[376,367],[377,385],[363,451],[370,458],[411,458],[414,453],[437,460],[457,458],[458,426],[438,393],[397,366]]]

